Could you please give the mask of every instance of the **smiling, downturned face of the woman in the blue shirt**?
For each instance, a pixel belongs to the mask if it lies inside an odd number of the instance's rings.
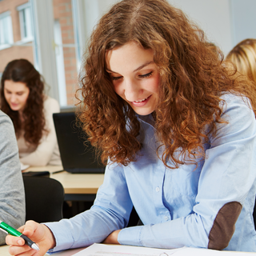
[[[160,75],[153,55],[153,50],[136,42],[106,53],[106,71],[114,91],[141,115],[154,112],[158,103]]]

